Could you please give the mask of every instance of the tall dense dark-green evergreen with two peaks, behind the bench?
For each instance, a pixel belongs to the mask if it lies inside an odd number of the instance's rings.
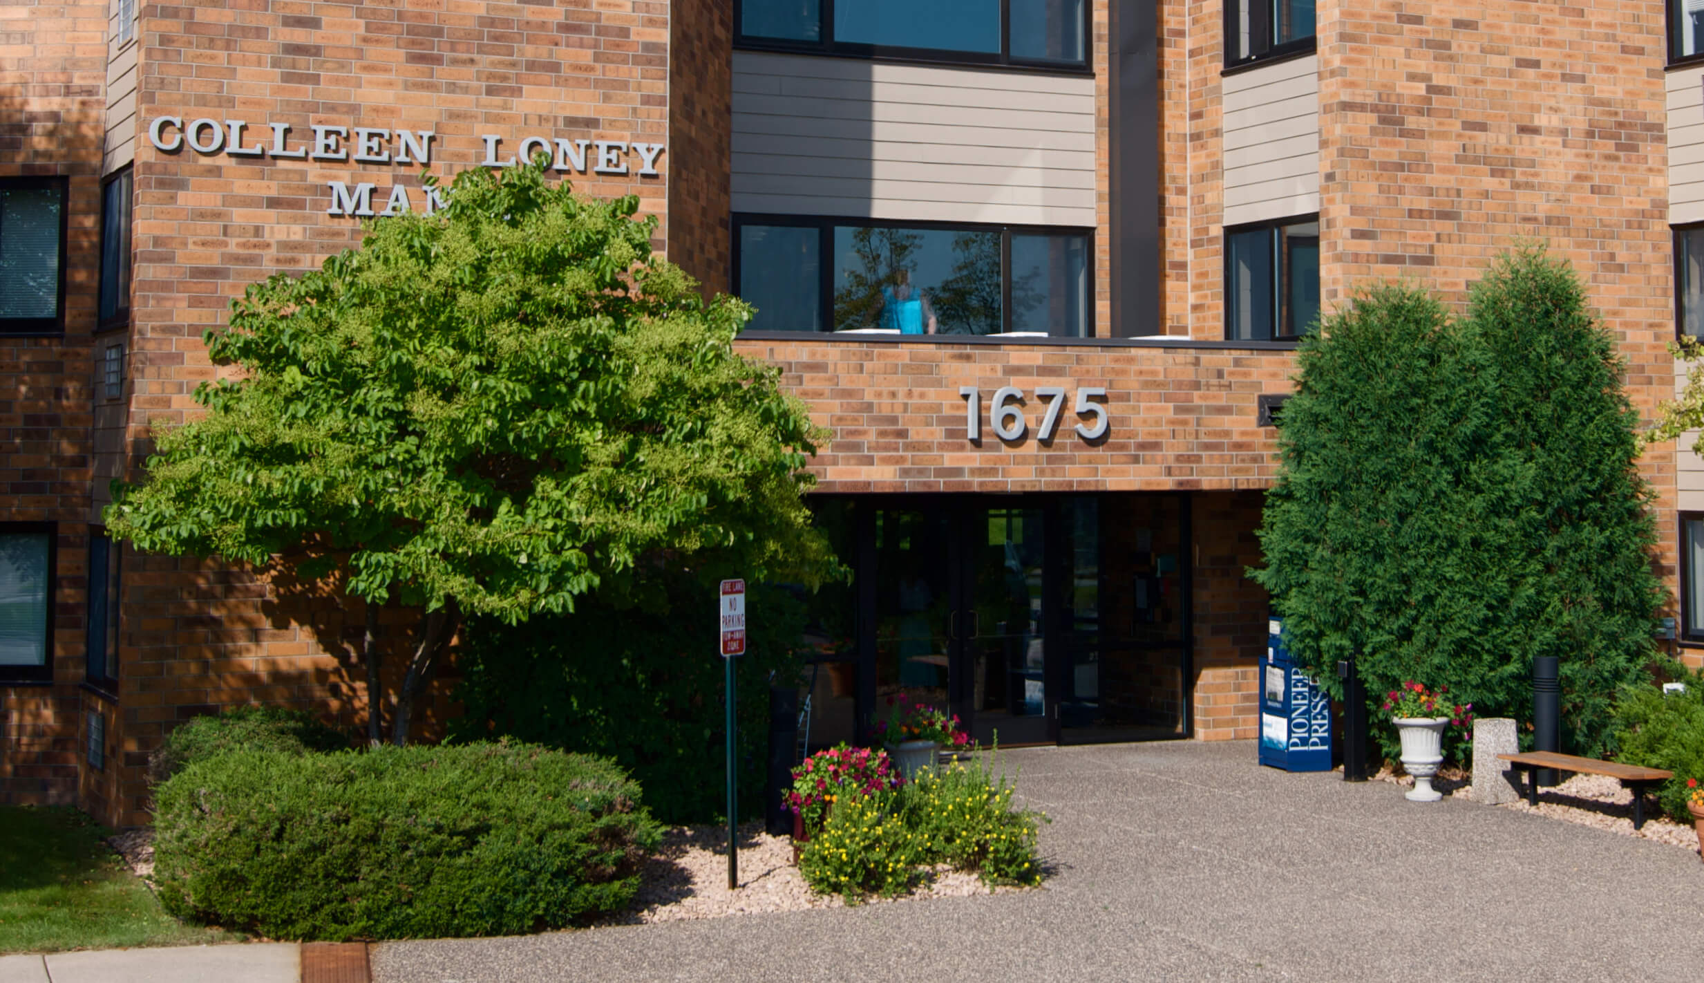
[[[1297,658],[1336,688],[1360,646],[1375,707],[1418,680],[1528,719],[1532,659],[1559,656],[1564,744],[1602,751],[1665,595],[1638,412],[1573,269],[1505,256],[1462,320],[1373,288],[1298,368],[1251,571]]]

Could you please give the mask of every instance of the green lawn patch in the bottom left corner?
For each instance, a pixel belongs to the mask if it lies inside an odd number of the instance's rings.
[[[235,942],[160,910],[77,809],[0,808],[0,952]]]

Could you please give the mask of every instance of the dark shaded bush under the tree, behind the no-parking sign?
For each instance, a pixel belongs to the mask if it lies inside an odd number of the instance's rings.
[[[520,625],[472,618],[457,656],[465,716],[450,734],[605,755],[644,785],[658,819],[714,821],[728,789],[716,583],[646,581],[658,596],[644,610],[586,598],[573,615]],[[786,589],[748,586],[746,654],[734,659],[741,789],[763,787],[769,687],[797,678],[803,629],[804,608]],[[762,813],[762,796],[740,801],[748,816]]]

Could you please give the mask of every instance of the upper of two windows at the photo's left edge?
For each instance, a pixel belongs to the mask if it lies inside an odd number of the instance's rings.
[[[0,179],[0,332],[63,327],[65,184],[63,177]]]

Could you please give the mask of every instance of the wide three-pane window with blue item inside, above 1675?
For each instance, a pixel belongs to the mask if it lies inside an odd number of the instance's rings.
[[[1091,337],[1089,233],[734,216],[753,331]]]

